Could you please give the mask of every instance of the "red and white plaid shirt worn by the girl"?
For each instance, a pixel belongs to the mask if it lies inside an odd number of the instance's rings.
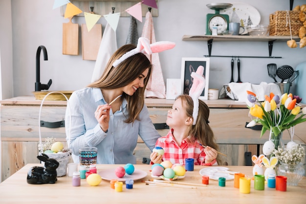
[[[169,131],[167,136],[159,137],[155,144],[155,146],[159,146],[164,149],[164,161],[169,160],[173,164],[179,163],[181,165],[185,165],[185,159],[194,158],[195,165],[218,165],[216,159],[210,163],[205,163],[206,154],[204,153],[204,148],[198,141],[196,141],[194,144],[190,144],[186,141],[186,139],[184,139],[181,146],[178,146],[172,133],[173,129]]]

